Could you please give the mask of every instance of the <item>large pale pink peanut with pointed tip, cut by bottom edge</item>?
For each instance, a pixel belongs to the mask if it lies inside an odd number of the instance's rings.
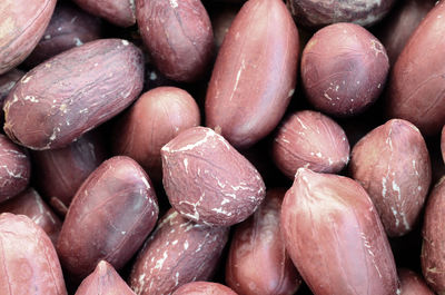
[[[353,179],[299,168],[281,205],[280,226],[286,249],[314,294],[397,293],[382,222]]]

